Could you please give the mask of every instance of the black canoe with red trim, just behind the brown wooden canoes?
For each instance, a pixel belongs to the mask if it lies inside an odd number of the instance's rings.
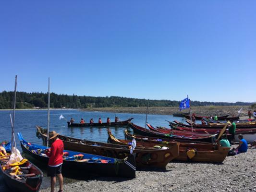
[[[169,138],[173,140],[190,140],[190,141],[201,141],[201,142],[213,142],[215,140],[216,135],[210,135],[210,136],[193,136],[193,135],[175,135],[175,134],[165,134],[160,132],[153,132],[151,130],[145,129],[143,127],[140,127],[138,125],[135,125],[134,123],[129,124],[130,128],[133,129],[134,133],[140,134],[140,135],[146,135],[151,137],[160,137],[160,138]]]

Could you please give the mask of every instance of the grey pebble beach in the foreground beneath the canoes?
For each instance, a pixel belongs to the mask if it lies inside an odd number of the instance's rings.
[[[228,156],[222,164],[171,162],[166,171],[138,170],[132,180],[100,177],[75,181],[65,184],[64,192],[256,192],[255,162],[256,149],[248,149]]]

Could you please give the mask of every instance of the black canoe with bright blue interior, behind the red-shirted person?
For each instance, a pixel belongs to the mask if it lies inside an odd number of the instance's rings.
[[[49,157],[44,153],[46,146],[30,144],[18,133],[24,154],[47,165]],[[130,155],[124,159],[97,156],[75,151],[64,150],[67,156],[63,157],[63,174],[73,177],[88,178],[91,175],[108,177],[135,178],[135,159]]]

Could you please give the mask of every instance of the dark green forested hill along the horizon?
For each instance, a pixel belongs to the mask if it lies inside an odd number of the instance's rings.
[[[0,109],[12,108],[13,92],[3,91],[0,93]],[[47,108],[48,95],[46,93],[17,92],[16,108]],[[146,107],[148,100],[127,98],[120,96],[68,96],[50,94],[51,108],[104,108],[104,107]],[[149,107],[178,107],[180,101],[149,100]],[[252,103],[236,102],[200,102],[192,101],[192,106],[237,106],[252,105]]]

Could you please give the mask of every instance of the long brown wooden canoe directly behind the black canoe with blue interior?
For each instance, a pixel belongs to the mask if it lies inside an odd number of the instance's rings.
[[[47,139],[46,134],[42,134],[43,140]],[[64,143],[64,149],[71,151],[79,151],[100,156],[110,156],[114,158],[125,158],[130,154],[130,148],[119,144],[108,144],[94,142],[82,139],[76,139],[58,135]],[[179,155],[179,143],[173,143],[168,149],[155,149],[153,147],[136,147],[137,168],[165,168],[166,165]]]

